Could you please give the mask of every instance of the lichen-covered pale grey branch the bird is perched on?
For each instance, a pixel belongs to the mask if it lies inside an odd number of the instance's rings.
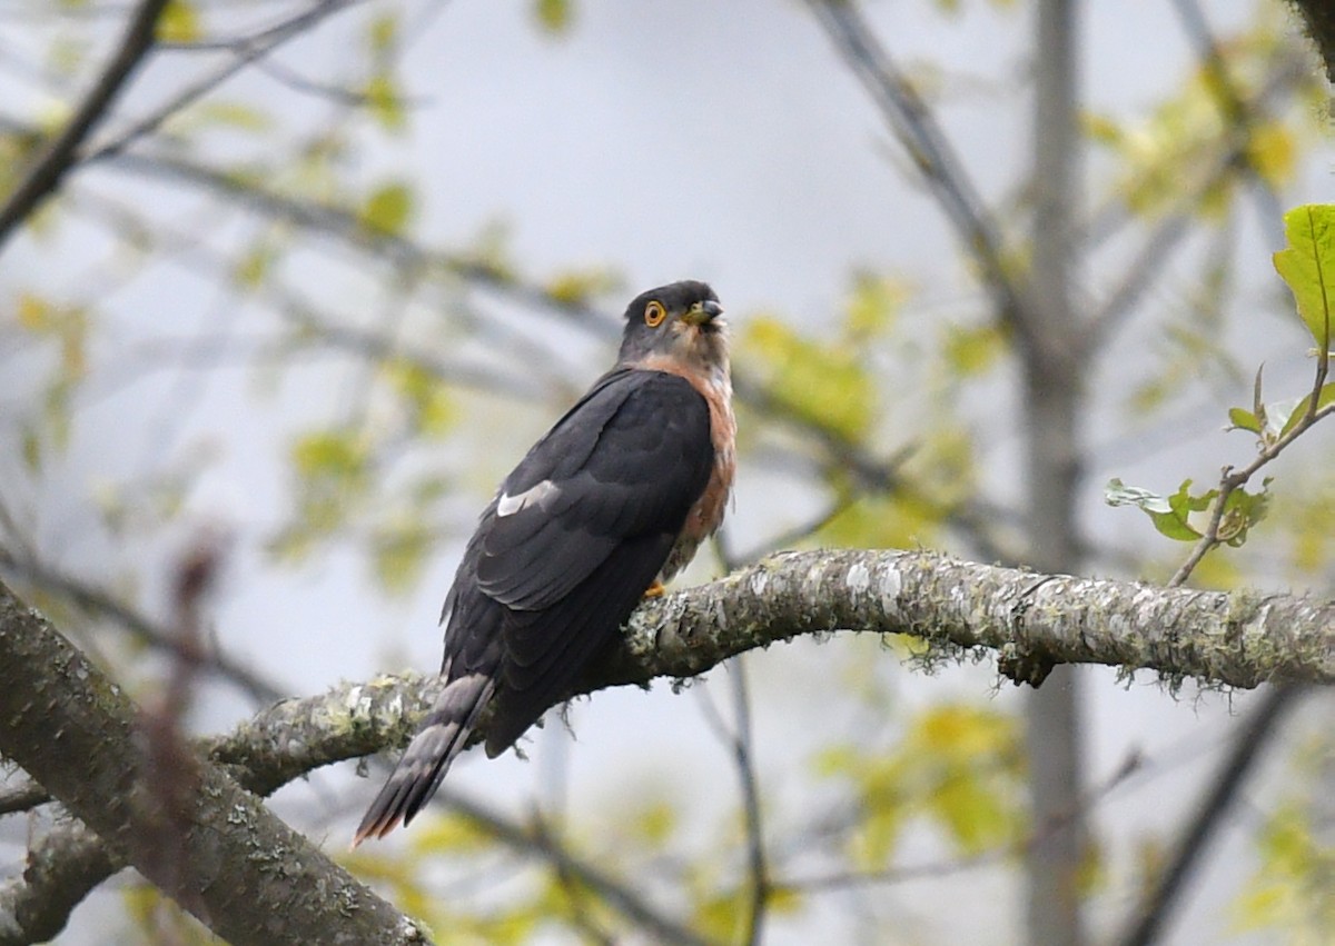
[[[12,599],[0,608],[0,663],[15,635],[23,639],[20,620],[36,618]],[[578,692],[694,676],[734,654],[834,630],[910,634],[936,644],[928,659],[991,648],[1003,659],[1041,652],[1057,663],[1148,668],[1236,687],[1335,683],[1335,600],[1047,576],[928,552],[830,550],[774,555],[722,580],[646,602],[626,628],[625,646],[593,670]],[[267,795],[320,766],[407,745],[438,686],[434,675],[382,676],[284,700],[211,741],[208,755],[248,791]],[[0,691],[0,718],[8,721],[9,704],[27,699]],[[479,729],[486,731],[485,717]],[[51,731],[48,722],[41,738]],[[13,738],[0,727],[7,754]],[[68,759],[68,742],[64,750]],[[93,793],[88,767],[80,773]],[[85,878],[84,891],[100,879],[87,869],[89,861],[105,874],[128,861],[96,857],[95,850],[84,851],[64,866],[65,874]],[[12,885],[0,887],[0,922],[11,918],[4,907],[16,899],[41,901],[21,894]],[[68,894],[64,902],[72,907],[79,897]]]

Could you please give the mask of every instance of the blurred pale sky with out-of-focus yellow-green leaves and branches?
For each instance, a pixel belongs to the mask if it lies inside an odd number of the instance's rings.
[[[131,12],[0,1],[0,193]],[[734,506],[678,586],[820,546],[1161,584],[1192,546],[1108,482],[1203,492],[1262,364],[1311,388],[1271,254],[1330,193],[1327,88],[1274,0],[178,0],[158,35],[0,252],[0,564],[146,695],[220,543],[200,733],[435,668],[478,512],[651,286],[710,282],[734,339]],[[1191,583],[1330,596],[1332,447]],[[979,656],[833,634],[603,691],[355,855],[382,763],[274,805],[442,942],[668,935],[626,902],[684,942],[1331,942],[1330,694]],[[5,877],[52,818],[0,822]],[[194,941],[132,871],[59,938]]]

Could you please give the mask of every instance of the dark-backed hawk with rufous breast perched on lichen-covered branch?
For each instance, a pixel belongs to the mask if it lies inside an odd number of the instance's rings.
[[[737,470],[722,314],[697,280],[635,296],[617,363],[505,478],[441,612],[445,688],[354,846],[413,821],[489,703],[487,757],[513,746],[720,527]]]

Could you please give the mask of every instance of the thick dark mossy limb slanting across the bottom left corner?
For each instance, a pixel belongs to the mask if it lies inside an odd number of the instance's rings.
[[[423,943],[411,921],[354,881],[216,766],[194,758],[174,813],[180,858],[152,837],[163,813],[143,771],[135,707],[36,611],[0,584],[0,751],[107,846],[228,942]],[[147,831],[147,834],[146,834]]]

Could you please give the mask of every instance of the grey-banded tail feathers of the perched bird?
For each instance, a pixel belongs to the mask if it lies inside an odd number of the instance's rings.
[[[478,714],[494,690],[495,682],[486,674],[466,674],[450,680],[390,781],[366,810],[352,837],[354,847],[371,837],[383,838],[399,822],[407,825],[431,801],[454,757],[467,746]]]

